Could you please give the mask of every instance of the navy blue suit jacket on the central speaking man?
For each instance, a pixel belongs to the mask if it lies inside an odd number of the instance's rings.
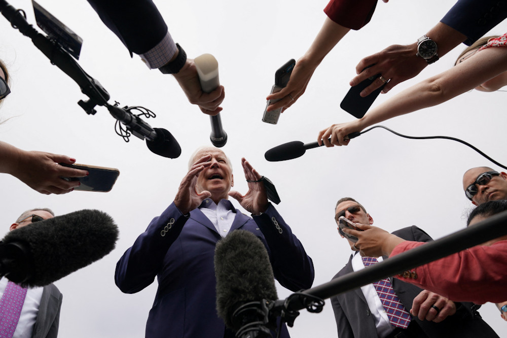
[[[279,229],[276,227],[278,224]],[[273,206],[250,218],[236,210],[231,231],[248,230],[266,246],[275,278],[298,291],[313,283],[313,263]],[[195,209],[187,218],[171,204],[139,235],[116,267],[116,284],[126,293],[150,285],[158,290],[148,316],[150,338],[233,337],[215,310],[214,249],[221,239],[209,219]],[[282,336],[288,337],[286,328]]]

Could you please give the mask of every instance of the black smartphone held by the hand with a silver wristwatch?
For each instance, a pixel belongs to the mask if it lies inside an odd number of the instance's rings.
[[[371,67],[373,64],[369,65],[366,68]],[[366,69],[365,68],[365,69]],[[363,71],[365,71],[365,69]],[[363,91],[366,87],[371,85],[373,81],[380,77],[380,74],[369,77],[363,82],[359,83],[356,86],[350,87],[347,95],[342,100],[340,104],[341,109],[351,114],[353,117],[360,119],[365,116],[366,112],[373,105],[373,102],[380,94],[382,89],[385,86],[385,83],[380,87],[375,89],[370,95],[366,97],[361,97],[359,93]]]

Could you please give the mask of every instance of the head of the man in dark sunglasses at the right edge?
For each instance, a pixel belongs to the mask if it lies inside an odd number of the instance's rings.
[[[507,174],[488,166],[469,169],[463,175],[463,190],[476,206],[490,200],[507,199]]]

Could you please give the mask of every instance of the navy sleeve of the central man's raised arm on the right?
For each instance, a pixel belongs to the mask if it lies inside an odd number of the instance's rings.
[[[270,204],[265,213],[253,216],[271,252],[276,280],[292,291],[308,289],[313,284],[313,261],[276,209]]]

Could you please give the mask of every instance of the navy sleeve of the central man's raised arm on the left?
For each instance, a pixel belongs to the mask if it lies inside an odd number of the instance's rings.
[[[153,283],[187,220],[174,203],[152,220],[116,264],[115,281],[120,290],[135,293]]]

